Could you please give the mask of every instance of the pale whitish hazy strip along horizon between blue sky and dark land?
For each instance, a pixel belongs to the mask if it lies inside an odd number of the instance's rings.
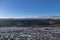
[[[60,19],[60,16],[43,16],[43,17],[0,17],[0,19]]]

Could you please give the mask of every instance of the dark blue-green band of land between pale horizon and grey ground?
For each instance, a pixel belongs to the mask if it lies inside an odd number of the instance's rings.
[[[60,24],[60,19],[0,19],[0,27],[32,27]]]

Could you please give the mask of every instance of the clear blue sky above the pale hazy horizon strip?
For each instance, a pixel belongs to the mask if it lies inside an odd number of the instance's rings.
[[[60,0],[0,0],[0,17],[60,16]]]

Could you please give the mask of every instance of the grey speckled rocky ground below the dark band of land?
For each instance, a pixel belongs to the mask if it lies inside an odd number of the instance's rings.
[[[0,40],[60,40],[60,28],[0,27]]]

